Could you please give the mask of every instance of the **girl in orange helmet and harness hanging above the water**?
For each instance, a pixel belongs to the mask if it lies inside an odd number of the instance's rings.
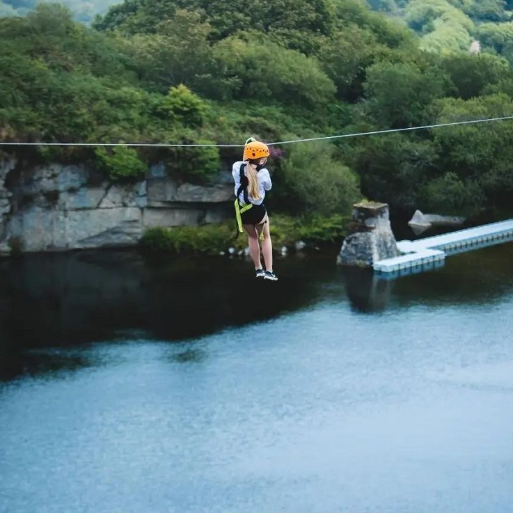
[[[273,271],[273,246],[269,234],[269,216],[265,210],[266,191],[272,187],[269,171],[264,167],[269,157],[269,148],[264,143],[250,137],[244,145],[242,161],[232,167],[235,180],[235,217],[239,232],[248,234],[251,260],[255,264],[257,278],[276,281]],[[264,257],[265,270],[260,260],[260,244]]]

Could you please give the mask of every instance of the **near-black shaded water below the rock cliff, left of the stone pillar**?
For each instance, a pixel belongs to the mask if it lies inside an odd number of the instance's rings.
[[[181,340],[303,308],[331,280],[334,258],[286,260],[278,283],[227,258],[136,251],[24,255],[0,260],[0,377],[87,365],[83,356],[27,349],[133,337]]]

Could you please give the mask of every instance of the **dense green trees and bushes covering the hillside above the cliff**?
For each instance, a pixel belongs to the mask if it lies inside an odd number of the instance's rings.
[[[125,0],[93,26],[62,4],[10,2],[22,17],[7,5],[3,141],[241,144],[513,115],[513,2],[371,0],[373,11],[360,0]],[[469,52],[473,40],[481,47]],[[273,146],[269,203],[329,216],[366,196],[405,213],[511,213],[512,137],[503,121]],[[164,162],[177,179],[206,183],[239,154],[20,155],[89,161],[113,180]]]

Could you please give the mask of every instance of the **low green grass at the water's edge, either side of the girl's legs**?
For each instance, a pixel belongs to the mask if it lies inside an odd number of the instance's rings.
[[[340,214],[308,218],[276,214],[271,219],[273,247],[276,251],[283,246],[293,248],[299,241],[305,242],[307,246],[340,243],[349,220],[349,217]],[[246,248],[246,234],[241,233],[239,237],[236,234],[235,220],[200,226],[149,228],[141,239],[141,245],[149,251],[219,255],[228,248],[235,248],[236,251]]]

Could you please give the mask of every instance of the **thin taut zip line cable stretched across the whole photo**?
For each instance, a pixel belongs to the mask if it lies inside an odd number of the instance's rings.
[[[423,125],[422,127],[393,128],[388,130],[374,130],[373,132],[357,132],[354,134],[341,134],[325,137],[311,137],[310,139],[293,139],[292,141],[278,141],[276,143],[266,143],[268,146],[276,146],[291,143],[306,143],[309,141],[326,141],[327,139],[342,139],[344,137],[360,137],[366,135],[391,134],[393,132],[407,132],[412,130],[423,130],[428,128],[453,127],[455,125],[471,125],[473,123],[488,123],[489,121],[503,121],[513,119],[513,116],[503,116],[502,118],[475,119],[468,121],[456,121],[455,123],[440,123],[439,125]],[[176,146],[195,147],[195,148],[244,148],[244,144],[187,144],[187,143],[17,143],[2,142],[0,146],[145,146],[171,148]]]

